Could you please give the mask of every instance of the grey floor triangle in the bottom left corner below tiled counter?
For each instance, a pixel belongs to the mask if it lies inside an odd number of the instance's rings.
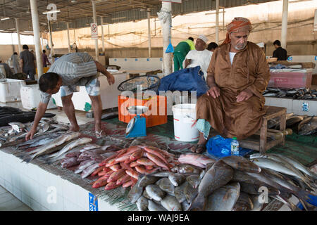
[[[0,211],[33,211],[30,207],[15,198],[10,192],[0,186]]]

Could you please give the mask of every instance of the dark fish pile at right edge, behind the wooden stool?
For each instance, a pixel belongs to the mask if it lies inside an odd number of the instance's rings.
[[[275,118],[268,121],[268,128],[280,129],[280,118]],[[302,116],[288,113],[286,115],[286,128],[293,129],[300,135],[317,134],[317,117]]]

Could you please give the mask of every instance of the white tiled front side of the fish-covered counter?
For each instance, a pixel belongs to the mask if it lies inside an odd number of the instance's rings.
[[[35,211],[89,211],[89,191],[85,188],[2,150],[0,185]],[[118,211],[118,207],[100,198],[98,208],[99,211]]]

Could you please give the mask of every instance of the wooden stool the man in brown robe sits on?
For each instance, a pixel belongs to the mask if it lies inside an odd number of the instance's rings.
[[[258,150],[261,154],[265,154],[266,150],[277,146],[278,144],[285,144],[285,136],[287,135],[286,129],[286,108],[265,106],[266,114],[263,115],[261,129],[256,132],[256,135],[260,136],[259,141],[252,139],[252,136],[239,141],[242,148],[249,148],[252,150]],[[272,120],[276,117],[280,117],[280,130],[268,129],[268,120]],[[280,139],[268,140],[268,137],[280,135]]]

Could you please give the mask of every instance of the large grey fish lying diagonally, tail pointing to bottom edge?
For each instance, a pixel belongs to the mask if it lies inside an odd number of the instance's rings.
[[[219,160],[206,172],[198,187],[198,195],[193,200],[189,210],[203,211],[206,206],[206,197],[216,189],[227,184],[233,177],[233,169]]]

